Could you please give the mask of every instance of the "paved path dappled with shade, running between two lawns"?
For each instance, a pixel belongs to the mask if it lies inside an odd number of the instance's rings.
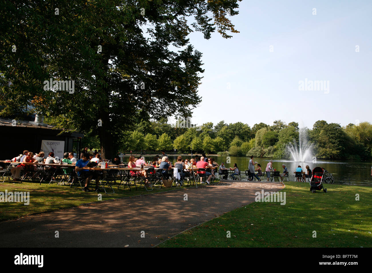
[[[151,247],[187,228],[254,202],[279,182],[215,185],[135,196],[0,222],[0,243],[12,247]],[[184,200],[187,194],[187,201]],[[55,231],[59,238],[55,238]],[[144,231],[145,238],[141,238]]]

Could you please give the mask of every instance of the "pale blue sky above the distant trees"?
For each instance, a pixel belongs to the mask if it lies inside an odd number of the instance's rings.
[[[189,35],[205,69],[193,123],[372,122],[372,1],[243,0],[238,10],[231,39]]]

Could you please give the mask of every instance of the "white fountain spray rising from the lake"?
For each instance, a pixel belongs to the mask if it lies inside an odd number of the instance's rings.
[[[286,151],[292,156],[294,162],[311,162],[312,160],[312,144],[308,143],[307,132],[305,128],[299,130],[299,145],[296,140],[288,143]]]

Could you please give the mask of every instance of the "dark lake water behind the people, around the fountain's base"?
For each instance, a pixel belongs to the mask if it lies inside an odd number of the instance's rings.
[[[137,156],[138,157],[138,156]],[[171,162],[176,162],[177,156],[168,155]],[[193,156],[195,157],[195,155]],[[241,171],[248,169],[249,164],[249,157],[246,156],[231,156],[230,163],[227,163],[227,158],[222,156],[212,156],[214,157],[215,161],[221,165],[221,162],[225,163],[225,166],[232,167],[234,163],[237,163],[238,168]],[[129,156],[124,157],[124,161],[128,161]],[[191,156],[183,156],[183,159],[190,159]],[[153,156],[145,156],[145,160],[152,160]],[[273,160],[273,167],[276,170],[282,172],[282,164],[285,164],[289,173],[294,174],[296,167],[298,165],[301,166],[303,170],[305,170],[305,166],[309,165],[310,169],[314,169],[315,167],[322,167],[328,172],[334,174],[336,180],[343,179],[343,178],[369,178],[371,179],[371,166],[372,162],[357,162],[357,161],[347,161],[347,160],[317,160],[317,163],[312,162],[293,162],[288,159],[278,159],[278,158],[260,158],[254,157],[254,161],[257,161],[264,172],[266,169],[267,163],[269,163],[270,159]]]

